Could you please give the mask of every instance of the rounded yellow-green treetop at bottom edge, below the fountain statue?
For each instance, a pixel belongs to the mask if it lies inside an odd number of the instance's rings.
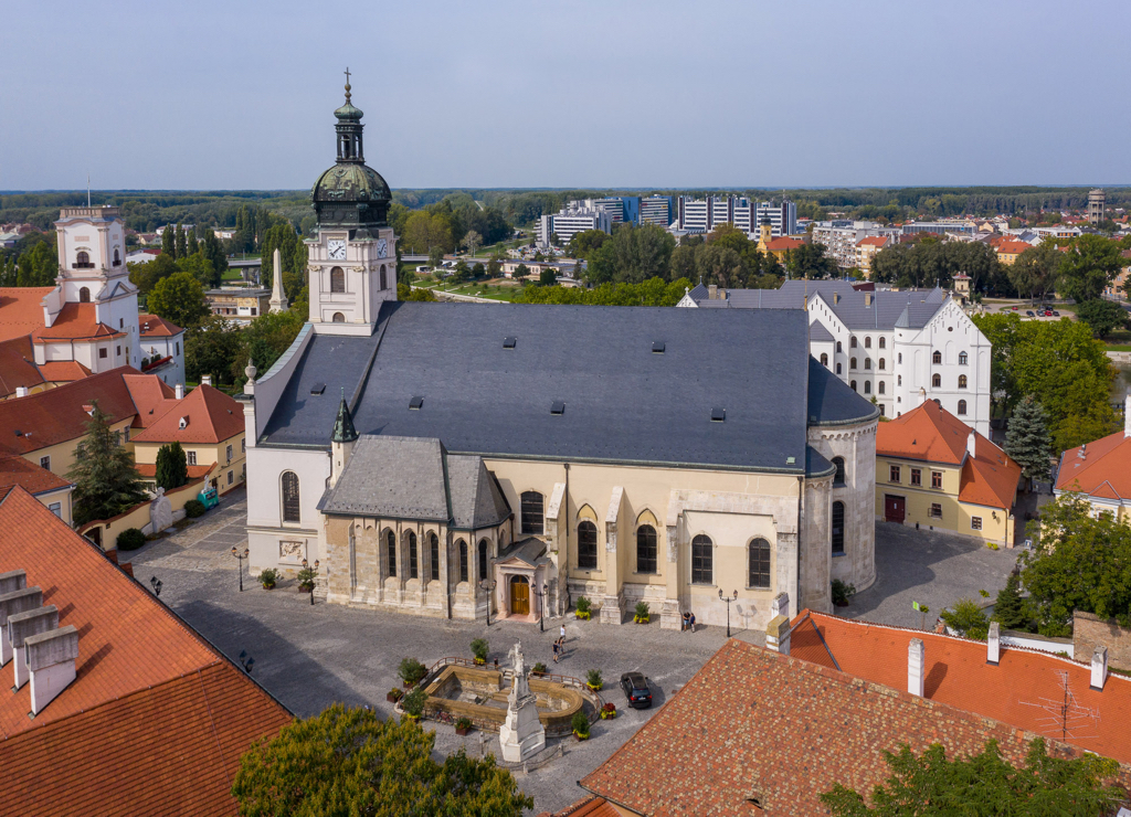
[[[232,796],[245,817],[519,817],[533,809],[493,757],[432,759],[435,732],[335,704],[283,727],[240,758]]]

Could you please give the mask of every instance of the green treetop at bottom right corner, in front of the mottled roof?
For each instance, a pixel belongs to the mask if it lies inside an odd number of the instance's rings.
[[[1015,768],[991,740],[981,754],[947,759],[941,744],[916,757],[907,744],[883,753],[891,776],[872,790],[872,806],[837,783],[821,794],[832,817],[1103,817],[1123,799],[1106,784],[1119,764],[1096,755],[1064,759],[1048,755],[1043,738],[1029,744],[1024,768]]]

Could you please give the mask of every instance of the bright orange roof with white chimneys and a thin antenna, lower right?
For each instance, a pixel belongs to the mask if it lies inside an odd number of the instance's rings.
[[[820,631],[820,635],[818,635]],[[823,643],[821,637],[823,636]],[[1062,702],[1061,673],[1080,707],[1097,713],[1080,737],[1065,742],[1131,764],[1131,678],[1111,675],[1103,690],[1089,687],[1090,667],[1045,652],[1002,647],[996,667],[986,663],[986,644],[802,611],[793,623],[789,654],[897,689],[907,688],[907,646],[922,638],[929,701],[957,706],[1017,729],[1061,739],[1050,702]],[[827,645],[827,646],[826,646]],[[1090,657],[1089,657],[1090,658]],[[948,747],[949,748],[949,747]]]

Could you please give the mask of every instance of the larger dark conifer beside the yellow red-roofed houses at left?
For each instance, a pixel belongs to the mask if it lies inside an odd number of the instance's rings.
[[[94,400],[94,414],[86,436],[75,449],[75,464],[67,478],[75,484],[75,522],[110,519],[148,498],[133,458],[122,446],[120,432],[111,428],[110,416]]]

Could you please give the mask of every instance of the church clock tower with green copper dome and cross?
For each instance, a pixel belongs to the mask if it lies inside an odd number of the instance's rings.
[[[388,224],[392,194],[365,164],[362,112],[351,101],[334,112],[337,160],[311,190],[318,235],[307,241],[310,321],[322,334],[372,334],[385,301],[397,299],[397,236]]]

